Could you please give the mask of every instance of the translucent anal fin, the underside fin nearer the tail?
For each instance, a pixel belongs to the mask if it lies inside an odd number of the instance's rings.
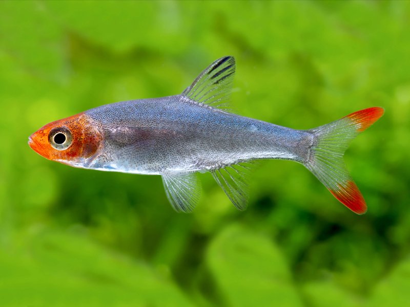
[[[239,210],[245,210],[248,205],[249,169],[247,164],[234,164],[211,172],[216,182]]]

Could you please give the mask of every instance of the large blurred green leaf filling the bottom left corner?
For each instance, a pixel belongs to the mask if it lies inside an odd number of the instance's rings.
[[[28,236],[26,247],[0,250],[2,306],[193,305],[171,280],[143,261],[112,252],[77,232],[49,229]]]

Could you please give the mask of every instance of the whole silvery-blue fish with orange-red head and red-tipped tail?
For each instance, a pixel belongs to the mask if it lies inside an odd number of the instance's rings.
[[[44,158],[73,167],[159,175],[179,212],[196,207],[200,172],[211,172],[233,205],[244,210],[254,161],[281,159],[303,164],[348,209],[365,213],[343,155],[384,108],[369,107],[306,130],[243,117],[227,109],[235,70],[233,56],[221,57],[182,94],[101,105],[46,124],[28,143]]]

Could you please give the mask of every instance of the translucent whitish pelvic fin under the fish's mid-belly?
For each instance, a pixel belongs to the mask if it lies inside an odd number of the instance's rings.
[[[168,200],[176,211],[192,212],[201,191],[195,173],[162,174],[162,183]]]

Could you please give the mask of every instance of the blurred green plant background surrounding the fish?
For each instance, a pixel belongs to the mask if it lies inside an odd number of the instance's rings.
[[[0,2],[0,305],[409,305],[409,20],[406,1]],[[345,156],[365,215],[293,162],[256,167],[244,212],[202,174],[178,214],[158,176],[27,145],[56,119],[181,93],[224,55],[240,115],[307,129],[385,108]]]

